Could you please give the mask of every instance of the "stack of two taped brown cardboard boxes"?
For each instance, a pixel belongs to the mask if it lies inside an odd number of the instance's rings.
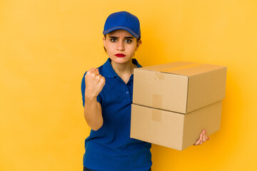
[[[134,69],[131,138],[183,150],[220,129],[226,66],[175,62]]]

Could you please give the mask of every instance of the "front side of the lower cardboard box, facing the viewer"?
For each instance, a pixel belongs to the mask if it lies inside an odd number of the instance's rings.
[[[131,105],[131,138],[181,150],[185,115]]]

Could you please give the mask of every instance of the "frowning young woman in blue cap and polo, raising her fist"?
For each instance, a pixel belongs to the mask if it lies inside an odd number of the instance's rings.
[[[133,58],[141,45],[140,24],[126,11],[111,14],[104,25],[104,65],[84,73],[81,93],[91,133],[85,140],[84,170],[151,170],[151,143],[130,138]],[[195,145],[208,140],[206,131]]]

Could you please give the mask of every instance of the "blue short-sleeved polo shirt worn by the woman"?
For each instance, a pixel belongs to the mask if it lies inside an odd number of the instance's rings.
[[[141,67],[135,58],[132,63]],[[99,130],[91,130],[85,140],[84,166],[96,171],[148,171],[152,165],[151,143],[130,138],[133,74],[125,83],[112,68],[111,58],[99,67],[99,73],[106,79],[97,96],[104,124]],[[85,75],[81,82],[83,105]]]

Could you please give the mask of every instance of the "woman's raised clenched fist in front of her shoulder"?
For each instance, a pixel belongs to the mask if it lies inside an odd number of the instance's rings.
[[[85,97],[93,99],[104,88],[105,78],[99,74],[98,68],[90,68],[85,76],[86,91]]]

